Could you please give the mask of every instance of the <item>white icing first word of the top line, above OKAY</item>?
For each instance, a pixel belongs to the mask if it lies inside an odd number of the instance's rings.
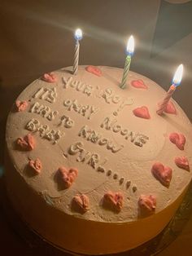
[[[64,89],[68,89],[68,87],[72,87],[77,91],[81,91],[83,94],[90,96],[93,93],[94,87],[91,85],[87,85],[84,82],[80,82],[77,80],[73,80],[73,77],[62,77],[63,87]]]

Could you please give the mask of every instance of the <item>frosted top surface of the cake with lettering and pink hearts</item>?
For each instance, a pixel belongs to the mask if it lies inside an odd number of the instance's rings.
[[[163,210],[190,183],[189,119],[173,99],[159,116],[166,92],[140,74],[130,71],[122,90],[120,68],[71,70],[45,74],[18,97],[7,119],[16,171],[47,204],[77,218],[137,220],[143,195]]]

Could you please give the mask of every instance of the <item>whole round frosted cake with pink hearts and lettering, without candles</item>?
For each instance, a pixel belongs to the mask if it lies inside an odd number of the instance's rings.
[[[15,210],[60,249],[112,254],[151,240],[191,179],[192,127],[165,91],[123,70],[80,66],[46,73],[7,119],[6,182]]]

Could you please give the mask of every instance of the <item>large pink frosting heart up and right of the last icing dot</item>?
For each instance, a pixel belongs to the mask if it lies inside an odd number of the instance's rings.
[[[151,172],[165,187],[169,186],[172,179],[172,169],[170,167],[164,166],[160,162],[155,162],[152,166]]]

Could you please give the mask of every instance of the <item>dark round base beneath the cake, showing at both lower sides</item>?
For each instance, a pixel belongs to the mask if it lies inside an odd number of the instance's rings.
[[[3,178],[0,179],[0,194],[3,209],[5,212],[5,218],[11,224],[11,227],[14,228],[15,232],[22,237],[25,243],[35,251],[38,255],[46,254],[47,255],[57,255],[57,256],[69,256],[76,255],[82,256],[85,254],[76,254],[70,252],[68,250],[64,250],[50,243],[50,241],[46,241],[42,238],[37,232],[33,231],[26,223],[24,223],[19,214],[17,214],[11,204],[11,201],[7,197],[7,192],[5,188],[5,184],[3,182]],[[174,241],[177,236],[181,233],[183,227],[189,220],[192,214],[192,183],[188,189],[188,192],[185,194],[185,198],[181,203],[180,208],[177,210],[177,213],[172,218],[170,223],[164,228],[162,232],[159,233],[158,236],[155,236],[151,241],[146,242],[143,245],[138,246],[135,249],[131,249],[129,251],[119,253],[119,254],[110,254],[114,256],[150,256],[158,254],[160,251],[165,249],[172,241]]]

